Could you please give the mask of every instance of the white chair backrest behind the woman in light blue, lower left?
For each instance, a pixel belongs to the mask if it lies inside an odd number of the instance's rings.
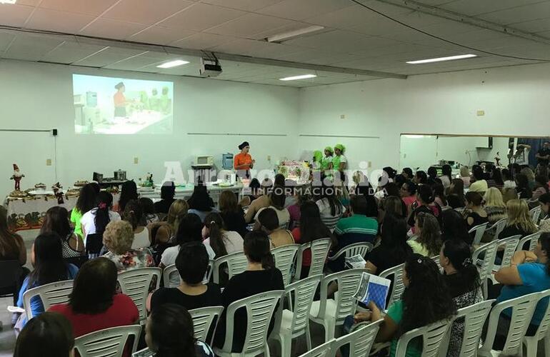
[[[48,311],[50,306],[66,303],[69,301],[69,295],[73,292],[73,281],[56,281],[55,283],[44,284],[31,288],[23,293],[23,306],[25,308],[26,318],[33,318],[31,309],[31,298],[38,296],[44,305],[44,311]]]

